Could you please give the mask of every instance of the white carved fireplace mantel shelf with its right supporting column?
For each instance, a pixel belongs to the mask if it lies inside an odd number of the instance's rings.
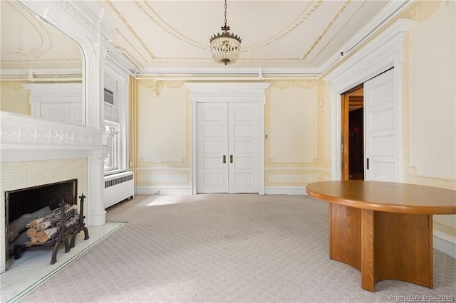
[[[10,112],[0,115],[1,162],[88,159],[87,223],[103,225],[103,159],[109,151],[109,134],[104,129]]]

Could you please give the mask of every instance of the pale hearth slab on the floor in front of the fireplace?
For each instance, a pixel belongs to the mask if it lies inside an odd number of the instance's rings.
[[[53,247],[29,248],[24,251],[20,259],[10,258],[10,269],[0,275],[1,302],[16,302],[31,289],[95,247],[122,225],[123,223],[107,223],[103,226],[89,227],[87,240],[84,240],[84,232],[81,231],[76,236],[75,247],[69,252],[65,252],[65,245],[59,246],[57,262],[53,265],[51,265]]]

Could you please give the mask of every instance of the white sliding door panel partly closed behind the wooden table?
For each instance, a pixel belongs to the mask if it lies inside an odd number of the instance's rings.
[[[398,181],[394,70],[364,84],[366,180]]]

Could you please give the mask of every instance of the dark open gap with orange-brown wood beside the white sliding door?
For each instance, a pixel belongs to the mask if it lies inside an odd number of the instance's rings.
[[[341,95],[342,179],[364,180],[364,87]]]

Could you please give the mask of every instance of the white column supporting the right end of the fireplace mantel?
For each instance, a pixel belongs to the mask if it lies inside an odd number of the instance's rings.
[[[103,200],[105,149],[90,151],[88,163],[88,226],[100,226],[106,223],[106,211]]]

